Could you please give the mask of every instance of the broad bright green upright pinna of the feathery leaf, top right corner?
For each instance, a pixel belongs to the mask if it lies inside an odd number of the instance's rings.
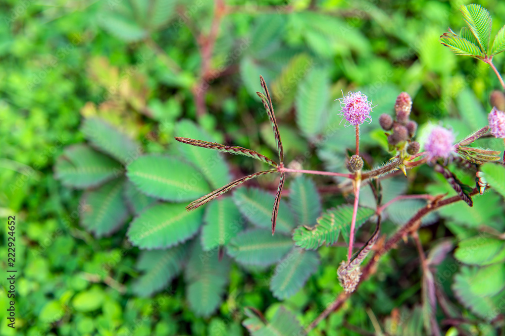
[[[480,5],[461,6],[463,18],[468,24],[468,28],[479,42],[483,54],[487,54],[489,48],[489,37],[491,35],[491,16],[489,12]]]

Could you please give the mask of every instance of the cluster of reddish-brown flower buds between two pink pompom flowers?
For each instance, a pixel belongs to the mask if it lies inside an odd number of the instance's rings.
[[[399,145],[401,148],[405,148],[403,146],[405,146],[406,141],[410,142],[417,131],[417,123],[409,119],[412,111],[412,98],[407,92],[401,92],[398,95],[394,104],[394,111],[396,114],[394,120],[388,114],[383,114],[379,117],[379,124],[384,131],[390,132],[387,133],[387,142],[390,146]],[[417,147],[416,145],[412,146],[409,154],[418,151],[419,144]]]

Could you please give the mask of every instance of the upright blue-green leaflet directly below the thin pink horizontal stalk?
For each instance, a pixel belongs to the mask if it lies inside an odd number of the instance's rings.
[[[321,198],[316,184],[302,175],[295,178],[289,187],[289,203],[298,225],[315,225],[321,214]]]

